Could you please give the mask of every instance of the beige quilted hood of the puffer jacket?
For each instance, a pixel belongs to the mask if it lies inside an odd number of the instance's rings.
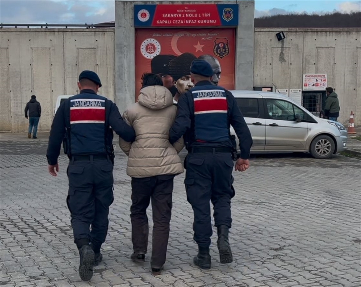
[[[140,90],[138,102],[148,109],[162,110],[173,104],[173,97],[166,87],[147,86]]]

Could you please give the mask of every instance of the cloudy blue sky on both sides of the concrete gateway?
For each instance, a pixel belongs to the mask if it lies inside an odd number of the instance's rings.
[[[256,0],[255,16],[361,11],[361,0]],[[0,23],[83,24],[114,21],[114,0],[0,0]]]

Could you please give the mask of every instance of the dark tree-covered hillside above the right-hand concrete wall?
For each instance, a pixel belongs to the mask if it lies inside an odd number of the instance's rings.
[[[343,14],[285,14],[255,18],[256,28],[347,28],[361,27],[361,12]]]

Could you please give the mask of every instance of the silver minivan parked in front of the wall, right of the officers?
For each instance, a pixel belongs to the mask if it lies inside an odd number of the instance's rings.
[[[347,131],[342,124],[312,115],[283,94],[231,92],[252,134],[251,153],[309,152],[326,159],[346,149]],[[232,127],[231,134],[235,134]],[[236,141],[239,149],[237,136]]]

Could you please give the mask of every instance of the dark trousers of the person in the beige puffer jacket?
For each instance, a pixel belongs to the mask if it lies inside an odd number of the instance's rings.
[[[166,259],[169,222],[173,206],[174,175],[159,175],[145,178],[132,178],[132,242],[134,253],[145,254],[148,248],[147,207],[152,199],[153,238],[151,266],[161,268]]]

